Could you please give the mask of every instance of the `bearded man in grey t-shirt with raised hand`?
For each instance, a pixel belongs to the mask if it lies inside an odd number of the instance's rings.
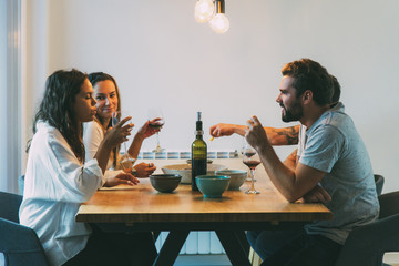
[[[264,259],[262,265],[334,265],[349,232],[378,217],[370,158],[344,104],[330,108],[332,81],[324,66],[301,59],[286,64],[282,74],[276,99],[282,120],[301,124],[296,156],[282,162],[256,116],[247,121],[245,137],[288,202],[320,187],[334,218],[300,231],[248,232],[248,241]]]

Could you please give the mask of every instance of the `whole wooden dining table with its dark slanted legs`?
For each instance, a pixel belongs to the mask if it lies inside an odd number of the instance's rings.
[[[166,164],[184,160],[153,160],[157,173]],[[214,160],[228,168],[245,170],[239,158]],[[262,165],[255,187],[260,194],[245,194],[249,182],[238,191],[226,191],[221,198],[206,198],[180,184],[173,193],[155,191],[149,178],[136,186],[116,186],[98,191],[76,214],[76,222],[95,223],[104,229],[167,231],[166,241],[153,265],[173,265],[191,231],[214,231],[232,265],[250,265],[245,231],[285,229],[306,223],[331,219],[323,204],[288,203],[274,187]]]

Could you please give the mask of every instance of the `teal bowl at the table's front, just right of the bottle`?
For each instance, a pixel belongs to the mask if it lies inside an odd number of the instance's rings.
[[[224,175],[198,175],[195,177],[197,187],[204,197],[222,197],[229,181],[231,177]]]

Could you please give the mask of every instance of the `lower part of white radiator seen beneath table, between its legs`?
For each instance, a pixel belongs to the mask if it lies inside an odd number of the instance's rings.
[[[161,249],[168,232],[161,232],[155,246]],[[225,250],[215,232],[191,232],[180,254],[225,254]]]

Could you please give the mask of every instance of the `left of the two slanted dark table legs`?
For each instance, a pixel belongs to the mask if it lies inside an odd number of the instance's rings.
[[[173,265],[190,231],[171,231],[153,266]]]

